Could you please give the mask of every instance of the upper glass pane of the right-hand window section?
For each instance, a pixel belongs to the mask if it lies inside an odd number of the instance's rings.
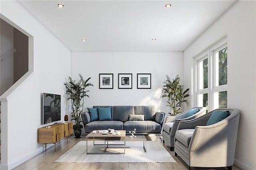
[[[228,84],[228,47],[218,51],[216,57],[216,86]]]

